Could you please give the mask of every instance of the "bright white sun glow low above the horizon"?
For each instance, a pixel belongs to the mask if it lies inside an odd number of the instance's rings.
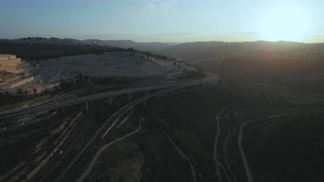
[[[280,6],[265,12],[260,39],[266,41],[305,41],[311,32],[309,13],[303,8]]]

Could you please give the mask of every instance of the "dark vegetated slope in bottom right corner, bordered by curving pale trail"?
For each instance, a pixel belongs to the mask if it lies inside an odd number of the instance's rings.
[[[255,181],[322,181],[324,114],[246,126],[244,150]]]

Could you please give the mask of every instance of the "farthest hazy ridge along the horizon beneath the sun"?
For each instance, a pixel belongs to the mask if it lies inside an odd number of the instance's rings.
[[[309,54],[318,54],[321,52],[324,43],[297,43],[289,41],[255,41],[255,42],[221,42],[206,41],[181,43],[179,45],[169,46],[159,51],[168,56],[177,56],[189,62],[206,61],[210,59],[226,59],[228,57],[243,56],[251,52],[273,52],[278,54],[286,52],[309,52]]]

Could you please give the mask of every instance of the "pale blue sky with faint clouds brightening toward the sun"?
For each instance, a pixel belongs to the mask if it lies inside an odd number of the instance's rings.
[[[324,42],[323,0],[0,0],[0,39]]]

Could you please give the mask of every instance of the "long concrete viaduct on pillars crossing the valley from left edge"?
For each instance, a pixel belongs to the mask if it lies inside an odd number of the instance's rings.
[[[186,81],[186,82],[179,82],[179,83],[169,83],[169,84],[164,84],[164,85],[149,85],[149,86],[142,86],[138,88],[127,88],[127,89],[121,89],[121,90],[114,90],[110,92],[102,92],[98,94],[91,94],[88,96],[84,97],[77,97],[75,99],[69,99],[66,101],[53,101],[52,103],[48,103],[46,105],[40,105],[35,108],[30,108],[26,110],[22,110],[21,112],[13,112],[12,114],[3,114],[2,116],[0,115],[0,121],[4,121],[12,118],[12,117],[19,117],[23,115],[28,115],[28,114],[33,114],[35,112],[40,113],[40,112],[48,112],[51,110],[57,110],[57,109],[64,109],[66,107],[69,107],[71,105],[77,105],[84,103],[84,108],[85,110],[89,109],[89,101],[96,101],[100,99],[107,99],[109,98],[109,103],[112,104],[112,98],[117,97],[120,95],[128,95],[129,100],[132,99],[132,93],[136,92],[146,92],[145,97],[141,97],[140,99],[136,99],[136,102],[131,102],[125,107],[127,107],[127,110],[124,112],[131,110],[132,108],[137,105],[138,103],[143,102],[144,107],[146,106],[146,99],[150,99],[152,97],[157,97],[159,99],[160,94],[166,94],[168,92],[174,92],[176,90],[181,90],[181,89],[186,89],[190,88],[193,86],[199,86],[199,85],[207,85],[207,84],[213,84],[217,83],[217,79],[215,78],[208,78],[208,79],[199,79],[195,81]],[[156,92],[153,92],[152,94],[149,94],[151,90],[159,90]],[[125,108],[123,107],[123,108]],[[116,114],[116,113],[115,113]],[[8,132],[10,130],[16,130],[21,128],[24,125],[30,125],[30,124],[35,124],[42,122],[37,120],[37,121],[28,121],[28,123],[16,123],[15,125],[12,125],[8,128],[0,128],[0,133],[1,132]]]

